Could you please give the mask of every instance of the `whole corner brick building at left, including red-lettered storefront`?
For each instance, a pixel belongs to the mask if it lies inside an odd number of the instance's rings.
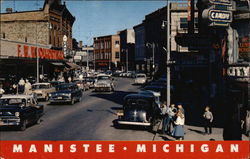
[[[47,74],[50,79],[54,78],[65,66],[64,36],[67,36],[67,50],[72,49],[75,18],[65,3],[45,0],[39,10],[6,11],[0,14],[0,77],[36,78]]]

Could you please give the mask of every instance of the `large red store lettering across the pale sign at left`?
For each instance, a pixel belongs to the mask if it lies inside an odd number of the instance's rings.
[[[63,60],[64,55],[62,51],[51,50],[46,48],[37,48],[28,45],[17,45],[17,56],[24,58],[37,58]]]

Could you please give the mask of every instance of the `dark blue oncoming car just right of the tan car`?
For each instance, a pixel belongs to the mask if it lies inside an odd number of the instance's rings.
[[[81,101],[82,91],[74,83],[58,85],[56,91],[49,94],[50,103],[70,102],[72,105],[76,101]]]

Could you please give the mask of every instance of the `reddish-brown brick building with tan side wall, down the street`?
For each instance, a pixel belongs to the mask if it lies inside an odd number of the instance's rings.
[[[94,38],[96,69],[111,70],[120,66],[120,36],[107,35]]]

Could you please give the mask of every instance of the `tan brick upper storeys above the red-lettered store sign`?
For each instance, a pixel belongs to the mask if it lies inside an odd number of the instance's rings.
[[[63,36],[72,49],[72,26],[75,17],[60,0],[45,0],[40,10],[1,13],[0,37],[17,42],[48,45],[62,50]]]

